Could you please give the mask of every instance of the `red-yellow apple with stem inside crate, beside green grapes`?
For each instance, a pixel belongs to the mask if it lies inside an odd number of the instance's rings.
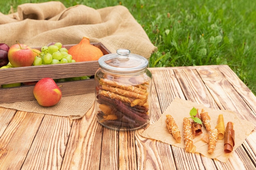
[[[33,50],[25,44],[14,44],[8,51],[8,59],[13,67],[32,66],[35,56]]]

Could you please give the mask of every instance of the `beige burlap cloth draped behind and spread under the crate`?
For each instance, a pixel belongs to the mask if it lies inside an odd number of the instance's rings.
[[[0,13],[0,42],[9,46],[18,40],[31,47],[49,42],[78,44],[83,36],[90,42],[101,42],[111,53],[117,49],[130,49],[131,53],[149,58],[156,50],[146,32],[124,6],[93,9],[85,5],[66,8],[61,2],[21,4],[16,13]],[[36,101],[0,104],[5,108],[82,117],[92,106],[94,94],[62,97],[50,108],[40,107]]]

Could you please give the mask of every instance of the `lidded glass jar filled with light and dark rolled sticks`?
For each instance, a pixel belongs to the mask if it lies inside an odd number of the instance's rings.
[[[152,75],[148,60],[128,49],[99,58],[95,79],[97,121],[114,130],[135,130],[151,118]]]

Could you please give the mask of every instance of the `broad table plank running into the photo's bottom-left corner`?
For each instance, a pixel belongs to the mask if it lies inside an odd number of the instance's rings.
[[[43,114],[18,111],[0,138],[0,167],[19,170],[25,160]]]

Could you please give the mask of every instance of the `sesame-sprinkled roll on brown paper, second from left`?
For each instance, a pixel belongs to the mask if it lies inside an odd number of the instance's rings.
[[[195,145],[193,144],[193,136],[191,131],[191,124],[189,118],[183,119],[183,137],[185,150],[187,152],[195,153]]]

